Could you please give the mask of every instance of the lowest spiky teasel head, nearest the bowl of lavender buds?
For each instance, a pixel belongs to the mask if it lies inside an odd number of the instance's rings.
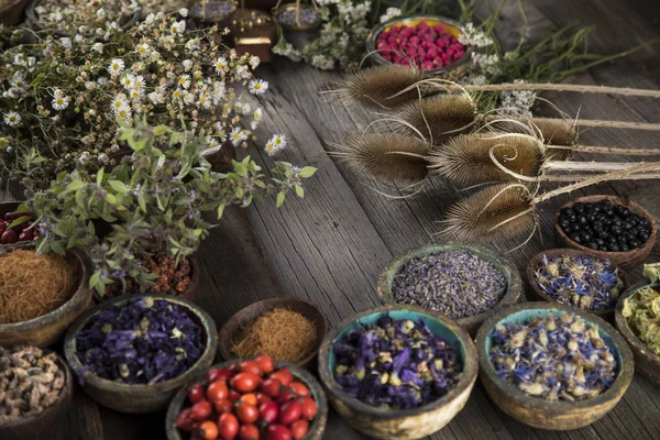
[[[529,234],[536,222],[529,191],[520,185],[498,184],[452,205],[440,235],[458,241],[492,242]]]

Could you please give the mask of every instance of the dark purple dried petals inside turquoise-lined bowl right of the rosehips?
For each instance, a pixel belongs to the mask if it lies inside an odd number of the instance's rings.
[[[334,380],[372,406],[415,408],[446,395],[462,372],[458,348],[437,338],[424,319],[383,315],[349,331],[333,345]]]

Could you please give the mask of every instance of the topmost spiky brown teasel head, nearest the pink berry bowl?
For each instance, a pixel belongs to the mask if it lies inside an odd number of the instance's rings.
[[[395,97],[402,90],[424,79],[424,73],[413,67],[382,65],[360,69],[343,81],[343,97],[348,101],[365,106],[394,108],[419,98],[411,89]]]

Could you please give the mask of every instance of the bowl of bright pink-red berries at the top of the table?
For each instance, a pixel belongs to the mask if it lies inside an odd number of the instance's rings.
[[[371,31],[366,50],[375,64],[413,65],[431,75],[451,72],[461,77],[472,57],[470,46],[460,41],[462,34],[461,24],[443,16],[396,18]]]

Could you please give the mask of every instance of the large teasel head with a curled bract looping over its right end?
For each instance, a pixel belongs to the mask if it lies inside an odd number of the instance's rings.
[[[541,147],[540,142],[526,135],[461,134],[431,154],[429,167],[462,185],[516,182],[518,179],[515,176],[494,164],[491,151],[507,169],[537,177],[543,164]]]

